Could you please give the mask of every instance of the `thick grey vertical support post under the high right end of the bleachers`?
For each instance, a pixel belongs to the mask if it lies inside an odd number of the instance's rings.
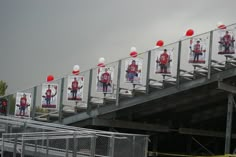
[[[233,94],[228,95],[228,111],[227,111],[227,123],[226,123],[226,135],[225,135],[225,154],[230,154],[231,144],[231,128],[233,119]]]

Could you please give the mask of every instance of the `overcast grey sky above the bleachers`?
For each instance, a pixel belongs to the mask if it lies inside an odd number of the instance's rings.
[[[162,39],[175,42],[232,24],[235,0],[0,0],[0,80],[7,93],[26,89],[143,52]]]

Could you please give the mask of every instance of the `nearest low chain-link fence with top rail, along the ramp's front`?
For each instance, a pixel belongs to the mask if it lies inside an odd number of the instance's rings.
[[[2,156],[33,157],[145,157],[147,137],[89,131],[4,133]]]

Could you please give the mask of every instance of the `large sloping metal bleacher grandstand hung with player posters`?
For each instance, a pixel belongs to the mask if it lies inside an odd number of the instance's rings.
[[[142,82],[137,84],[124,81],[126,61],[130,58],[106,64],[114,69],[113,92],[108,94],[95,90],[100,67],[81,72],[82,101],[66,100],[67,77],[54,80],[52,83],[59,87],[58,108],[54,110],[39,109],[42,85],[23,90],[33,95],[30,119],[53,125],[145,134],[150,137],[148,150],[154,155],[160,152],[232,154],[236,147],[233,125],[236,57],[234,39],[230,53],[220,50],[221,34],[226,31],[233,36],[235,25],[139,54]],[[189,60],[193,39],[205,43],[204,64]],[[172,71],[156,74],[156,54],[163,49],[173,52]],[[8,116],[14,115],[15,107],[8,106]]]

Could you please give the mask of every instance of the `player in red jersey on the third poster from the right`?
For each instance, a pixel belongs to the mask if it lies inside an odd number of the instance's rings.
[[[164,49],[164,52],[160,55],[160,58],[156,60],[160,65],[160,73],[167,73],[167,68],[170,63],[170,56],[167,54],[167,50]]]

